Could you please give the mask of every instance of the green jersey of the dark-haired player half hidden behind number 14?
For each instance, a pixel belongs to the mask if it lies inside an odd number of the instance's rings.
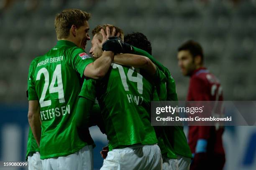
[[[175,82],[169,70],[160,62],[156,61],[153,56],[148,54],[148,52],[136,47],[133,47],[133,50],[134,54],[148,57],[157,67],[159,67],[159,70],[164,72],[164,75],[166,75],[166,80],[159,82],[159,85],[156,87],[159,100],[177,101],[178,97]],[[158,144],[161,149],[161,153],[167,153],[167,157],[169,158],[177,158],[176,154],[192,158],[182,126],[165,126],[157,131],[159,131]]]

